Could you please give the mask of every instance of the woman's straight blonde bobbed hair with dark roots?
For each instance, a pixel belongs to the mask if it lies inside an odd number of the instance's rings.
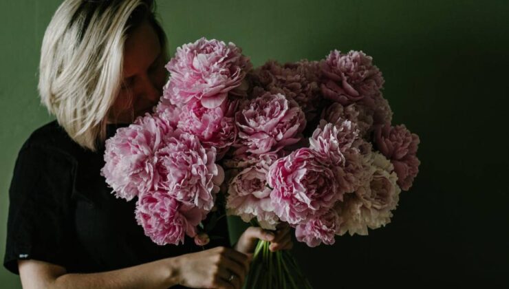
[[[41,103],[81,147],[96,151],[122,82],[124,43],[149,20],[162,51],[166,36],[151,0],[65,0],[44,34]]]

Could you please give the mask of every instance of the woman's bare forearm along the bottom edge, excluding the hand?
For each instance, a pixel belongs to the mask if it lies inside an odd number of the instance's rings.
[[[169,288],[179,283],[175,258],[138,266],[89,274],[65,274],[54,280],[52,288]]]

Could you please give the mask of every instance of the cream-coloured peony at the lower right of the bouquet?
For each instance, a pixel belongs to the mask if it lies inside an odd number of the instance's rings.
[[[400,187],[393,165],[385,156],[376,151],[365,156],[362,186],[355,193],[345,195],[338,202],[336,210],[343,220],[339,235],[367,235],[368,228],[376,229],[391,222],[398,205]]]

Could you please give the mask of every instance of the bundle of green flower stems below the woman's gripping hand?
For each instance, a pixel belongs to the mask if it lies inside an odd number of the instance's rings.
[[[290,250],[269,250],[270,242],[259,240],[243,289],[312,289]]]

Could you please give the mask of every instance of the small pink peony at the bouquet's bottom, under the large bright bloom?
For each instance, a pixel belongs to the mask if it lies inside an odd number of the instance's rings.
[[[297,241],[305,242],[307,246],[316,247],[323,244],[332,245],[336,242],[334,237],[340,228],[340,218],[334,210],[312,217],[311,220],[295,227]]]

